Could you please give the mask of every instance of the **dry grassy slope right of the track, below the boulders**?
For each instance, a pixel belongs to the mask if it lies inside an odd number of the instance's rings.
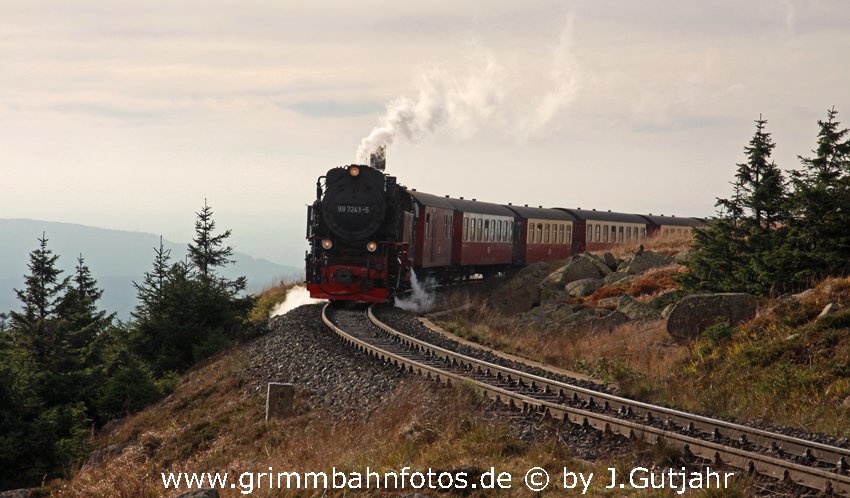
[[[621,250],[623,255],[634,248]],[[647,250],[668,254],[681,243]],[[651,302],[676,290],[681,267],[652,270],[626,286],[608,286],[595,302],[629,294]],[[677,344],[663,320],[629,322],[610,333],[542,332],[478,304],[440,322],[447,330],[558,367],[616,381],[639,399],[740,420],[761,420],[850,437],[850,279],[832,279],[810,296],[765,303],[752,321],[717,327]],[[462,300],[459,298],[458,300]],[[815,322],[830,302],[845,309]]]

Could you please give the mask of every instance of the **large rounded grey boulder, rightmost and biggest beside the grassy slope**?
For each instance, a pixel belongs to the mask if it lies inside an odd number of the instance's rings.
[[[737,325],[756,314],[756,298],[750,294],[694,294],[685,296],[667,317],[667,332],[688,341],[718,322]]]

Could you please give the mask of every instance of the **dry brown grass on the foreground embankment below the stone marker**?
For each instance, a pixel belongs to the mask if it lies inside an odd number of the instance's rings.
[[[96,467],[79,470],[70,481],[51,484],[56,496],[160,497],[160,473],[377,471],[414,469],[489,469],[522,476],[535,465],[575,467],[559,441],[527,442],[504,419],[488,412],[491,402],[465,386],[445,388],[411,378],[369,413],[340,416],[301,399],[295,415],[266,423],[264,399],[245,396],[237,384],[248,359],[236,352],[220,356],[188,374],[163,402],[129,417],[100,445],[124,446]],[[488,415],[489,413],[489,415]],[[515,478],[516,479],[516,478]],[[221,490],[224,497],[242,496]],[[322,496],[301,491],[294,496]],[[397,496],[398,492],[346,490],[331,496]],[[504,496],[534,496],[518,486]],[[257,489],[252,496],[280,496]],[[486,494],[471,494],[485,496]]]

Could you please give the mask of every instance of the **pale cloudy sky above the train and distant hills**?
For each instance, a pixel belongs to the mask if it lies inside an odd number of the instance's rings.
[[[184,242],[207,199],[298,266],[316,178],[381,141],[420,191],[711,215],[760,115],[786,170],[827,109],[850,125],[848,26],[844,0],[0,0],[0,218]]]

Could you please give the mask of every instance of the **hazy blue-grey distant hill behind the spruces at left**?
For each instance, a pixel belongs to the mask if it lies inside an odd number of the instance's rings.
[[[150,270],[159,235],[27,219],[0,219],[0,311],[19,308],[13,289],[23,286],[29,253],[36,248],[36,239],[42,232],[47,235],[48,247],[59,255],[60,268],[70,272],[82,254],[104,290],[101,307],[117,312],[119,318],[129,318],[136,304],[132,282],[140,282],[144,272]],[[172,260],[186,255],[185,243],[163,243],[171,249]],[[260,291],[281,278],[291,280],[304,275],[302,268],[245,253],[236,252],[233,259],[236,264],[222,273],[231,278],[244,275],[249,292]]]

